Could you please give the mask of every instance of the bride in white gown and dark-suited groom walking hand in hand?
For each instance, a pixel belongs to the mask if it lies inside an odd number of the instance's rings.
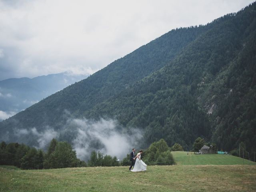
[[[143,153],[142,150],[135,156],[135,149],[132,149],[132,152],[130,153],[130,161],[132,162],[129,170],[132,172],[137,172],[137,171],[146,171],[147,170],[147,165],[140,159],[141,154]],[[132,169],[133,166],[133,169]]]

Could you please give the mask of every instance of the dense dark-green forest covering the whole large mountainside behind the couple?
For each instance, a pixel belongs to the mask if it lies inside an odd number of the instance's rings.
[[[114,118],[192,150],[199,136],[219,150],[256,150],[256,3],[211,23],[171,30],[90,77],[0,123],[0,140],[35,145],[16,130],[51,127],[71,142],[70,118]]]

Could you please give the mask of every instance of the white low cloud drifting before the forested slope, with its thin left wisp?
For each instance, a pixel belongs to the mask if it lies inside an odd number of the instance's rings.
[[[39,128],[16,129],[14,135],[18,142],[32,144],[36,148],[47,150],[53,138],[69,142],[77,157],[89,160],[93,150],[103,154],[116,156],[118,159],[126,157],[132,148],[142,145],[142,131],[138,128],[125,128],[117,120],[103,119],[88,120],[70,118],[68,111],[64,113],[67,121],[62,128],[54,130],[50,126]]]

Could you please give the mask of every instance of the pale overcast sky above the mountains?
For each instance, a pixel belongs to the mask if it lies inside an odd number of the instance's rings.
[[[0,80],[92,74],[179,27],[253,0],[0,0]]]

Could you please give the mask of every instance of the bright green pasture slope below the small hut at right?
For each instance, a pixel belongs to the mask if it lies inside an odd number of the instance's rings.
[[[195,155],[194,152],[173,151],[178,165],[256,165],[255,162],[226,154]]]

